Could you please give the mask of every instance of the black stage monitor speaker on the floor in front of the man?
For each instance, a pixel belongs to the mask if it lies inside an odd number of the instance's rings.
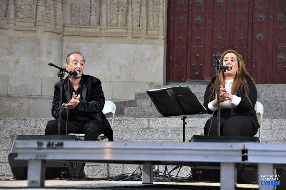
[[[14,151],[15,140],[77,140],[74,135],[18,135],[12,142],[8,160],[14,179],[27,179],[27,160],[15,160],[18,153]],[[73,178],[79,174],[82,162],[47,161],[45,179]]]

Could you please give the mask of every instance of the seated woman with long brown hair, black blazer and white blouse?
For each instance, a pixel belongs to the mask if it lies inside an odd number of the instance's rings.
[[[223,66],[231,70],[222,71],[220,79],[220,128],[221,135],[254,136],[259,126],[254,109],[257,100],[255,83],[247,72],[241,55],[234,50],[227,50],[221,55]],[[204,126],[205,135],[217,135],[217,77],[206,87],[204,107],[215,117],[207,120]]]

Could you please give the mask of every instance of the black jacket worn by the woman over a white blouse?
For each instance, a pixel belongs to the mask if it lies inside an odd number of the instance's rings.
[[[210,81],[210,83],[206,87],[206,92],[204,93],[204,107],[206,108],[208,114],[212,114],[212,110],[208,108],[208,103],[215,99],[215,94],[212,94],[212,90],[210,89],[212,83],[215,82],[215,79],[216,78],[213,78],[212,81]],[[246,116],[251,120],[253,128],[259,128],[260,126],[257,120],[256,111],[255,109],[253,109],[257,101],[256,86],[249,75],[246,75],[246,80],[249,87],[248,97],[251,102],[246,99],[244,88],[240,87],[236,95],[238,97],[241,97],[241,101],[237,105],[237,108],[233,109],[233,116]],[[215,116],[217,116],[217,111],[215,111]],[[221,117],[225,119],[231,117],[231,109],[221,109]]]

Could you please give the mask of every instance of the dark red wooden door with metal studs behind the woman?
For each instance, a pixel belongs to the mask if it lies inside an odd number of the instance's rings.
[[[256,83],[286,83],[285,0],[168,0],[166,81],[209,80],[238,51]]]

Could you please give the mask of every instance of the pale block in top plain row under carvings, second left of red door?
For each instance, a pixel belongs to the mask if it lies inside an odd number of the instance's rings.
[[[103,62],[133,62],[133,44],[103,44]],[[144,50],[142,50],[144,52]],[[146,56],[145,52],[144,55]]]

